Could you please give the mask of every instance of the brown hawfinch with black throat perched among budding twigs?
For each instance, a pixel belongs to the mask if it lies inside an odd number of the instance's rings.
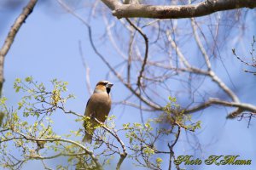
[[[100,122],[105,122],[111,109],[110,90],[113,84],[108,81],[101,81],[96,84],[93,94],[87,102],[84,116],[95,117]],[[98,123],[95,120],[84,121],[85,136],[83,142],[91,143],[93,133]]]

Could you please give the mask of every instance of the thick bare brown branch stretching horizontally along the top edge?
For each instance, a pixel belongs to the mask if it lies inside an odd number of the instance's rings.
[[[188,5],[145,5],[122,4],[117,0],[102,0],[117,18],[154,18],[154,19],[179,19],[200,17],[217,11],[236,8],[255,8],[254,0],[206,0],[202,3]]]

